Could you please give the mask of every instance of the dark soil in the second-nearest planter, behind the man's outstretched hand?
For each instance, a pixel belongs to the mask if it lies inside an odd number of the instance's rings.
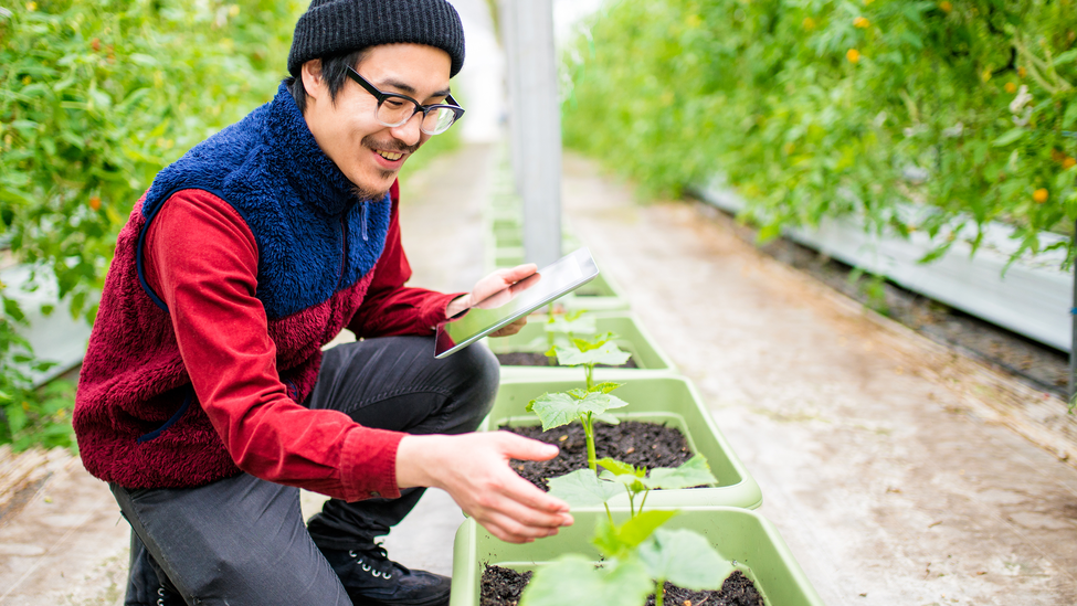
[[[561,449],[550,460],[513,460],[513,469],[524,479],[547,490],[546,479],[571,474],[588,466],[587,434],[579,423],[543,432],[541,425],[498,427],[525,437],[553,444]],[[636,467],[679,467],[691,458],[688,440],[675,427],[657,423],[623,421],[619,425],[594,424],[594,454]]]

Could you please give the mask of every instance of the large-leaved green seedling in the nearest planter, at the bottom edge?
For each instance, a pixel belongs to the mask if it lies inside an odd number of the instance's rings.
[[[718,589],[720,580],[732,573],[732,565],[698,533],[662,529],[677,511],[643,511],[646,495],[655,488],[715,483],[706,459],[697,455],[680,467],[655,468],[650,475],[644,468],[614,459],[600,463],[605,468],[601,478],[580,469],[549,482],[550,493],[573,507],[600,502],[605,507],[606,518],[592,539],[604,559],[602,566],[595,567],[582,555],[563,555],[535,573],[520,606],[556,606],[576,598],[583,603],[601,600],[603,606],[638,606],[652,591],[655,605],[662,606],[666,581],[695,591]],[[622,489],[627,490],[630,502],[640,493],[644,498],[640,511],[633,506],[631,518],[617,525],[608,501]]]

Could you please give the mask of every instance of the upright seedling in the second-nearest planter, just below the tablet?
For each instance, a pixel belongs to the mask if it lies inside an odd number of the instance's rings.
[[[617,419],[605,414],[612,408],[627,406],[629,403],[610,392],[620,387],[622,383],[594,383],[595,364],[619,365],[625,363],[631,353],[621,351],[613,342],[616,336],[612,332],[600,334],[592,340],[571,339],[567,347],[555,345],[547,355],[556,355],[559,364],[564,366],[583,366],[587,380],[585,389],[568,392],[545,393],[528,402],[527,411],[534,412],[542,422],[542,430],[568,425],[579,419],[587,436],[588,467],[598,472],[594,454],[594,422],[602,419],[612,425]]]

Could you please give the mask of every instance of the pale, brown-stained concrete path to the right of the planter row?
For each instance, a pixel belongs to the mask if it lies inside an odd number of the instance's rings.
[[[1043,394],[761,255],[709,208],[564,170],[574,231],[700,387],[827,604],[1077,604],[1077,469],[999,412]]]

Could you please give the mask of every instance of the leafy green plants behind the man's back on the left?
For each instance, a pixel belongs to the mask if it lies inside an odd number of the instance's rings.
[[[0,248],[92,321],[116,234],[154,176],[286,76],[299,0],[39,0],[0,6]],[[72,446],[73,385],[38,360],[0,284],[0,443]]]

